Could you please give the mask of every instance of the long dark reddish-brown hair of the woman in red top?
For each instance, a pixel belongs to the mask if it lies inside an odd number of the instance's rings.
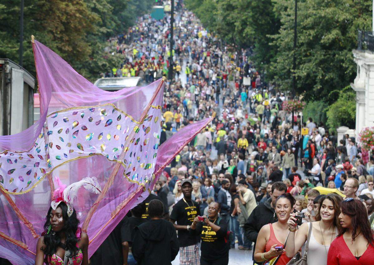
[[[364,203],[360,200],[343,200],[340,203],[341,212],[345,215],[351,216],[352,225],[352,241],[355,241],[357,230],[360,229],[360,233],[365,237],[369,244],[374,246],[373,241],[373,231],[370,228],[368,214],[365,209]],[[343,235],[348,228],[341,228],[339,231],[339,236]]]

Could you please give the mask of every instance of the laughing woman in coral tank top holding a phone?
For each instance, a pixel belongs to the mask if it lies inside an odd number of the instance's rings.
[[[278,222],[264,225],[258,233],[254,259],[256,262],[275,259],[277,265],[286,265],[291,258],[286,256],[284,244],[288,235],[288,218],[294,209],[295,199],[289,193],[284,193],[275,200],[275,213]]]

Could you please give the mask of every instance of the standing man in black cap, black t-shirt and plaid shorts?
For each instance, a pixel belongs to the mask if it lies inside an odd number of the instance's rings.
[[[182,180],[181,183],[183,199],[174,205],[170,215],[170,221],[178,230],[178,241],[180,265],[200,265],[199,246],[197,245],[198,236],[189,233],[190,225],[196,216],[200,215],[199,205],[191,200],[192,182],[191,180]],[[177,224],[175,224],[177,221]]]

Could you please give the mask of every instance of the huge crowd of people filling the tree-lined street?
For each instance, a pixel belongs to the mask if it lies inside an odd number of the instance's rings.
[[[111,40],[124,62],[106,76],[152,82],[168,74],[173,58],[160,144],[217,114],[112,233],[123,246],[119,262],[170,264],[179,252],[182,265],[228,264],[237,246],[252,250],[257,264],[287,264],[304,253],[308,264],[371,264],[370,154],[355,137],[338,140],[324,124],[285,111],[287,94],[263,82],[251,50],[223,44],[183,4],[172,50],[169,25],[167,13],[161,21],[145,15]],[[92,260],[108,262],[99,251]]]

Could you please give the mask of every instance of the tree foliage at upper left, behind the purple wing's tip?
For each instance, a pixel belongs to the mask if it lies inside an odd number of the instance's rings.
[[[136,18],[150,12],[151,0],[25,0],[24,63],[35,75],[30,36],[58,53],[74,69],[94,81],[120,56],[108,56],[106,40],[126,32]],[[19,61],[21,1],[0,3],[0,57]]]

